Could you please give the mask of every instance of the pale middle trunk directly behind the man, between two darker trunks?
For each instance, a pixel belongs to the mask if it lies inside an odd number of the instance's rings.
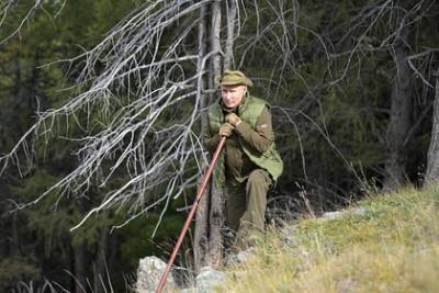
[[[212,26],[211,26],[211,50],[221,52],[221,3],[215,1],[212,4]],[[221,75],[221,55],[216,54],[211,63],[211,89],[215,88],[213,80],[215,76]],[[209,260],[213,267],[221,267],[223,262],[223,235],[224,226],[224,192],[222,188],[216,187],[216,178],[212,178],[211,183],[211,214],[210,214],[210,244]]]

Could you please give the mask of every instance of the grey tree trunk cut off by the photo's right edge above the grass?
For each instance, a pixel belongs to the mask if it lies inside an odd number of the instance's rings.
[[[439,181],[439,69],[436,76],[435,104],[432,106],[431,140],[428,149],[426,183]]]

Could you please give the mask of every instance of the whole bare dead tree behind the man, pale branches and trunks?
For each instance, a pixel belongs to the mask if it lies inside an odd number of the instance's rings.
[[[0,168],[4,171],[10,165],[21,166],[23,157],[19,154],[24,154],[30,165],[33,159],[30,140],[54,139],[63,126],[67,129],[63,138],[78,144],[75,155],[79,164],[36,200],[16,203],[16,209],[37,204],[54,193],[59,199],[86,196],[91,188],[103,190],[117,172],[125,172],[128,179],[98,199],[100,203],[71,229],[80,228],[89,217],[110,209],[127,213],[126,221],[113,228],[158,206],[162,209],[160,223],[171,200],[194,187],[206,165],[194,129],[200,122],[201,132],[206,129],[206,108],[216,99],[214,77],[224,67],[224,43],[227,66],[233,60],[235,26],[239,23],[237,7],[237,1],[148,2],[122,20],[94,48],[58,60],[81,66],[75,68],[79,77],[71,88],[80,93],[58,109],[40,112],[36,123],[0,158]],[[221,35],[223,9],[230,10],[226,41]],[[195,13],[200,13],[199,24],[192,21]],[[210,30],[207,15],[212,18]],[[195,34],[198,52],[184,43]],[[190,111],[176,111],[180,106]],[[95,113],[101,123],[99,131],[92,122]],[[168,119],[170,113],[172,119]],[[71,127],[79,127],[86,135],[69,136]],[[196,169],[188,168],[190,161],[196,162]],[[104,167],[109,162],[110,167]],[[158,190],[161,192],[157,193]],[[209,261],[219,266],[224,196],[222,189],[212,188],[212,203],[206,198],[201,204],[194,246],[195,250],[203,250],[198,263]]]

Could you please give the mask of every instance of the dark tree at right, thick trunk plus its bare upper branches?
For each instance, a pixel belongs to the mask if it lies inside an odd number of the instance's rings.
[[[414,72],[421,77],[425,87],[430,87],[430,84],[427,81],[428,78],[424,78],[424,75],[412,63],[412,59],[427,57],[427,54],[419,55],[415,52],[416,44],[413,43],[414,38],[410,37],[410,34],[418,22],[431,18],[429,11],[432,5],[434,3],[430,1],[392,0],[365,4],[347,24],[340,26],[340,30],[345,30],[346,33],[334,44],[334,47],[344,50],[330,54],[328,58],[330,64],[342,64],[341,68],[328,67],[328,76],[333,78],[329,86],[333,87],[344,81],[352,68],[359,67],[358,71],[360,72],[360,65],[365,53],[387,53],[393,57],[395,75],[390,80],[393,83],[392,102],[384,139],[387,158],[383,184],[386,190],[401,187],[406,182],[405,149],[429,110],[427,105],[418,117],[413,116]],[[376,34],[375,30],[383,23],[390,30],[385,30],[384,34]],[[325,84],[323,86],[325,87]],[[416,120],[412,121],[412,119]]]

